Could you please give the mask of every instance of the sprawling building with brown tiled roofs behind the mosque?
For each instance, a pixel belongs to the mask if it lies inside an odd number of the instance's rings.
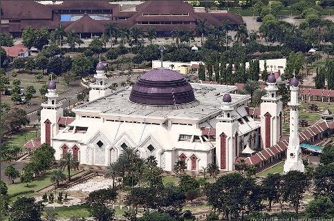
[[[64,21],[62,16],[80,16],[76,21]],[[105,19],[94,20],[94,16]],[[230,20],[232,25],[243,23],[243,19],[227,11],[210,11],[203,7],[192,7],[183,1],[146,1],[136,6],[136,10],[121,10],[118,4],[108,1],[64,1],[62,4],[42,5],[35,1],[1,1],[1,33],[13,37],[21,35],[26,26],[50,30],[61,23],[66,32],[76,30],[90,36],[102,35],[106,23],[131,28],[156,28],[158,36],[170,35],[178,27],[180,30],[196,28],[198,19],[207,19],[212,26],[222,26],[222,21]]]

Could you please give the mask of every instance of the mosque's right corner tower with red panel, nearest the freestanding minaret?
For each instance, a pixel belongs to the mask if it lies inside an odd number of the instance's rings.
[[[282,134],[282,102],[277,96],[275,75],[269,75],[266,95],[261,97],[261,139],[263,148],[277,144]]]

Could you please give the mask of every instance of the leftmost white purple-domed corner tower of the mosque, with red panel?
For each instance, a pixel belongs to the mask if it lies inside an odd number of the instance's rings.
[[[59,131],[58,120],[63,115],[62,104],[57,102],[55,81],[48,82],[48,102],[42,103],[41,110],[41,144],[48,143],[52,146],[51,138]]]

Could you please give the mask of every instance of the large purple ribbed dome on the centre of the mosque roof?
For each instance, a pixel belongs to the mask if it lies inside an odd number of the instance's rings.
[[[169,69],[154,69],[140,77],[133,86],[129,100],[148,105],[187,104],[195,101],[189,82]]]

